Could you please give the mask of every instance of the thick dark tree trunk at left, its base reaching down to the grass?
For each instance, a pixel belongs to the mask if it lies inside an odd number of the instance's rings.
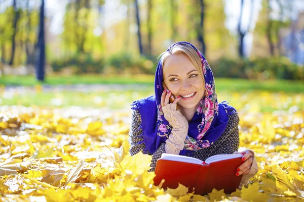
[[[39,22],[39,34],[37,42],[37,64],[36,64],[36,77],[39,81],[45,79],[45,34],[44,34],[44,0],[41,3],[40,9],[40,22]]]

